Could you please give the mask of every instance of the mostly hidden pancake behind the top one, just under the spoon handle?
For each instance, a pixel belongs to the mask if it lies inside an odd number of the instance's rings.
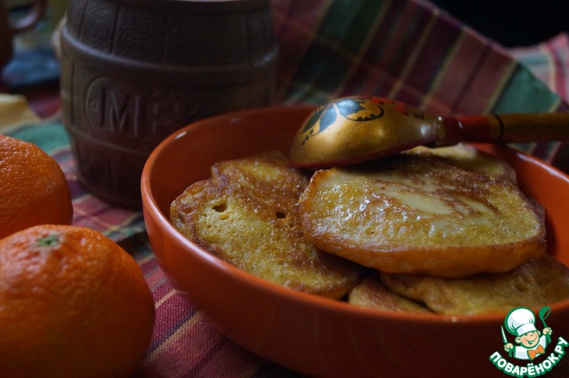
[[[493,180],[509,180],[516,182],[516,171],[500,157],[493,157],[479,149],[464,143],[453,146],[431,149],[425,146],[409,149],[406,153],[436,155],[467,171],[482,173]]]

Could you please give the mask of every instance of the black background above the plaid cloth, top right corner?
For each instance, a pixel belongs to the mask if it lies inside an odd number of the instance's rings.
[[[431,0],[506,47],[538,44],[569,30],[569,0]]]

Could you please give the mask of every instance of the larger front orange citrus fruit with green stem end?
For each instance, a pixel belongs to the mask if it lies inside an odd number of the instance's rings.
[[[154,301],[132,256],[100,232],[40,225],[0,240],[0,377],[129,377]]]

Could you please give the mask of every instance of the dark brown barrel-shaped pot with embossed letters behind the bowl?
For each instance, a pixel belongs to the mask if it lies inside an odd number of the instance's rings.
[[[269,0],[71,0],[61,97],[79,180],[140,207],[140,174],[167,135],[271,104],[277,48]]]

